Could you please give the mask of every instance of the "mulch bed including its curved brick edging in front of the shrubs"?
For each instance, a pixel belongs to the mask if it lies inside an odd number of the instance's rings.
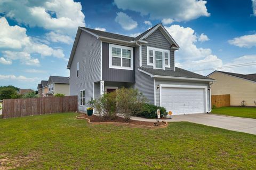
[[[86,114],[77,116],[77,118],[81,119],[87,119],[89,120],[89,123],[92,124],[115,124],[115,125],[130,125],[132,127],[146,127],[146,128],[161,128],[161,127],[166,127],[167,122],[164,121],[159,121],[159,122],[144,122],[144,121],[139,121],[139,120],[129,120],[127,122],[124,118],[122,117],[114,117],[112,119],[102,119],[99,116],[93,115],[93,116],[87,116]]]

